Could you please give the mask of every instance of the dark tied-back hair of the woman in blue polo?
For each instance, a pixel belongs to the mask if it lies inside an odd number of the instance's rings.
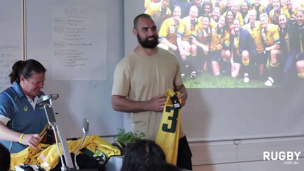
[[[45,73],[46,68],[38,61],[29,59],[26,61],[17,61],[13,67],[13,71],[9,75],[11,83],[19,82],[20,76],[23,75],[25,79],[31,78],[34,73]]]

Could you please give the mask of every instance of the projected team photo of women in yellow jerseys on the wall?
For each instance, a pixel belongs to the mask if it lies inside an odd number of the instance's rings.
[[[186,88],[277,88],[304,80],[300,0],[144,0]]]

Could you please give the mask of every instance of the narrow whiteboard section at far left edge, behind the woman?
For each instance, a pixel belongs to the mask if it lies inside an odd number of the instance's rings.
[[[11,87],[9,74],[22,59],[22,1],[0,2],[0,92]]]

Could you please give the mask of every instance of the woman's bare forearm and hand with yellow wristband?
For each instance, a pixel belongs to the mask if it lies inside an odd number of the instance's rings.
[[[10,130],[3,121],[0,121],[1,140],[19,142],[20,135],[21,133]],[[21,143],[36,149],[39,144],[39,139],[40,137],[38,134],[25,134],[21,140]]]

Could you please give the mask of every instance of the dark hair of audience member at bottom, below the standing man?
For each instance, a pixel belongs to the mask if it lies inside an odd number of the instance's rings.
[[[153,163],[166,162],[166,156],[154,141],[139,140],[126,152],[121,171],[145,171]]]

